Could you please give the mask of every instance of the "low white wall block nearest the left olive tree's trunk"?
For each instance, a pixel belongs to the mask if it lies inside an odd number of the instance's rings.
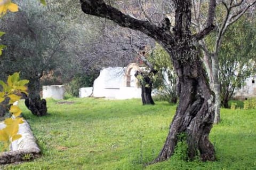
[[[43,86],[43,98],[64,99],[64,85]]]

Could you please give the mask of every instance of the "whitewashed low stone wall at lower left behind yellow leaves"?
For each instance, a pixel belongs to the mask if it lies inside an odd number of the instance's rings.
[[[5,125],[1,123],[0,129],[4,127]],[[19,125],[18,134],[21,134],[22,137],[11,143],[10,151],[0,153],[0,164],[10,164],[40,156],[41,150],[38,148],[35,137],[26,120]]]

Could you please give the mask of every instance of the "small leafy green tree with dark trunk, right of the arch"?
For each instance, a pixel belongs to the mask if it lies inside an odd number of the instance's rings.
[[[135,74],[141,85],[142,104],[154,104],[151,97],[153,88],[157,88],[160,93],[166,95],[169,102],[176,103],[178,100],[177,76],[174,73],[170,55],[156,44],[153,50],[139,53],[139,59],[146,66],[146,69]]]

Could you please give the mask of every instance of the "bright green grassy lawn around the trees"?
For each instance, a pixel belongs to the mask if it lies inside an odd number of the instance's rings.
[[[256,110],[221,110],[222,122],[210,134],[218,161],[173,158],[145,166],[161,150],[175,106],[103,99],[47,104],[49,115],[39,118],[20,104],[42,157],[3,169],[256,169]]]

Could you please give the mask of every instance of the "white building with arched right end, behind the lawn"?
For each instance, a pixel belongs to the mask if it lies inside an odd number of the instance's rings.
[[[130,63],[127,67],[108,67],[100,71],[93,83],[92,95],[96,98],[132,99],[141,98],[141,88],[135,71],[141,68]]]

